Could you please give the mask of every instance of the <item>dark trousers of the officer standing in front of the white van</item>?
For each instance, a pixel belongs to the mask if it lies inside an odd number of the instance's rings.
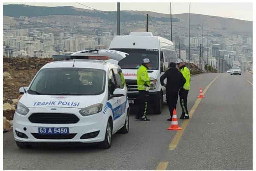
[[[148,102],[148,91],[145,90],[139,90],[139,105],[140,110],[137,113],[136,118],[140,119],[141,117],[146,117],[147,114],[147,102]]]

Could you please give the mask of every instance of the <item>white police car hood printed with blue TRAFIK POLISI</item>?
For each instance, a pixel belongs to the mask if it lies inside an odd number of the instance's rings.
[[[35,107],[68,107],[83,109],[90,105],[101,103],[103,95],[95,96],[50,96],[33,95],[25,93],[20,99],[20,103],[28,108]]]

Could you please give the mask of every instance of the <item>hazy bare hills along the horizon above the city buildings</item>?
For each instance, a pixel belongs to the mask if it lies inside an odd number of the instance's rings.
[[[77,23],[79,22],[79,20],[80,22],[83,22],[84,20],[96,20],[96,21],[104,21],[105,22],[104,27],[105,27],[107,24],[109,24],[109,22],[116,23],[116,20],[117,20],[116,11],[101,12],[97,10],[75,8],[72,6],[43,7],[43,6],[11,4],[11,5],[3,5],[3,14],[4,14],[4,24],[10,23],[12,17],[17,18],[19,16],[28,16],[30,19],[33,18],[34,21],[36,21],[37,19],[39,20],[43,19],[44,22],[46,23],[47,21],[54,22],[54,19],[60,18],[60,20],[57,20],[57,21],[66,26],[72,26],[73,24],[75,24],[74,21],[76,21]],[[169,14],[161,14],[161,13],[156,13],[152,11],[133,11],[133,10],[121,11],[121,22],[135,22],[135,21],[145,22],[146,14],[149,14],[153,22],[164,22],[165,24],[164,23],[161,24],[161,27],[169,27],[168,26],[170,22]],[[202,22],[208,17],[213,17],[213,16],[191,13],[190,14],[191,31],[193,32],[193,29],[197,27],[197,24],[201,25]],[[217,28],[221,34],[249,33],[252,35],[251,21],[238,20],[233,18],[224,18],[219,16],[214,16],[214,17],[215,19],[208,19],[204,23],[205,29]],[[64,20],[61,18],[64,18]],[[12,20],[12,23],[15,23],[15,22],[16,22],[15,20]],[[151,21],[150,21],[150,25],[152,25]],[[84,25],[81,25],[81,26],[84,27]],[[173,15],[173,26],[174,26],[174,29],[175,27],[177,27],[177,28],[184,29],[184,31],[186,31],[188,28],[188,14],[185,13],[185,14]],[[134,29],[133,27],[136,27],[136,26],[132,26],[131,29]],[[138,28],[138,30],[140,29],[141,28]],[[166,30],[160,30],[160,31],[165,32]],[[198,31],[196,30],[194,31],[195,31],[195,34],[199,34]]]

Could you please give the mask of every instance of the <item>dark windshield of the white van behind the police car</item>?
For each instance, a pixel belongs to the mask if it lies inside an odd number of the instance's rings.
[[[149,69],[158,69],[158,50],[157,49],[111,49],[125,52],[127,55],[119,61],[122,69],[138,69],[144,58],[148,58],[151,62]]]

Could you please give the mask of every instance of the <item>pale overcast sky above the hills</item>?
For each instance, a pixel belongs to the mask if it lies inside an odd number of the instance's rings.
[[[84,5],[103,11],[116,11],[117,3],[87,3]],[[35,6],[74,6],[77,8],[89,9],[78,3],[4,3],[5,4],[26,4]],[[170,14],[170,3],[120,3],[120,10],[147,10],[158,13]],[[188,13],[189,3],[172,3],[172,14]],[[221,16],[252,21],[252,3],[191,3],[190,13],[204,14],[210,16]]]

